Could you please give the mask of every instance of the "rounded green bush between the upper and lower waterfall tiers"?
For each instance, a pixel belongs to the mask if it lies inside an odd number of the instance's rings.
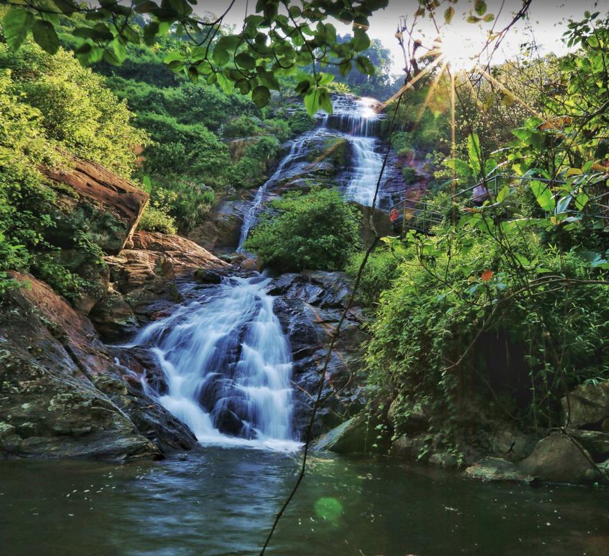
[[[314,188],[272,202],[245,247],[278,270],[339,270],[360,245],[359,213],[337,190]]]

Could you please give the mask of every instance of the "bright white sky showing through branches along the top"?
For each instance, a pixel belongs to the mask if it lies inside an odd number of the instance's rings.
[[[465,22],[465,18],[469,14],[469,10],[474,7],[473,0],[458,0],[456,4],[452,4],[455,8],[455,15],[448,26],[450,29],[449,41],[444,41],[444,50],[449,47],[451,56],[454,58],[467,58],[472,52],[478,52],[484,44],[484,38],[487,31],[495,24],[495,30],[505,27],[512,19],[512,15],[522,6],[522,0],[486,0],[487,13],[492,13],[497,16],[497,22],[485,23],[478,26]],[[251,6],[254,0],[249,2],[250,13]],[[228,3],[220,0],[212,0],[202,3],[201,6],[212,10],[214,13],[221,13],[222,6],[226,9]],[[394,34],[397,28],[401,15],[408,15],[412,21],[412,14],[417,9],[417,0],[390,0],[389,6],[385,10],[379,10],[370,19],[370,28],[368,34],[371,38],[378,38],[383,42],[385,47],[389,48],[394,56],[394,72],[401,73],[403,67],[403,56],[399,49],[397,40]],[[225,22],[228,24],[241,25],[246,11],[247,0],[236,0],[231,13],[226,17]],[[438,13],[438,23],[443,24],[443,11],[448,4],[442,3]],[[595,8],[595,6],[597,6]],[[499,51],[494,55],[493,60],[497,63],[508,58],[510,55],[518,51],[519,44],[531,40],[531,29],[533,30],[535,41],[542,52],[553,52],[555,54],[564,54],[565,45],[562,44],[560,38],[566,30],[566,22],[570,18],[579,19],[583,17],[585,10],[603,11],[607,10],[606,1],[604,0],[533,0],[529,10],[528,21],[519,21],[512,27],[508,36],[501,43]],[[351,27],[334,22],[337,31],[341,34],[346,34],[351,31]],[[420,31],[424,38],[428,39],[429,46],[437,36],[432,22],[428,19],[419,18],[419,24],[415,30]]]

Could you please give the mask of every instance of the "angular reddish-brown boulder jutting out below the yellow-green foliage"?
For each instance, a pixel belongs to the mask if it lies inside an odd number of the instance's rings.
[[[148,194],[85,158],[72,158],[73,170],[43,168],[57,194],[53,243],[74,247],[77,230],[109,255],[124,247],[140,220]]]

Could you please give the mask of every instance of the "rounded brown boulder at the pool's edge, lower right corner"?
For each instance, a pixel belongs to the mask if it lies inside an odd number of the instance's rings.
[[[599,478],[589,457],[585,448],[578,448],[565,434],[556,432],[540,440],[519,468],[543,481],[585,483]]]

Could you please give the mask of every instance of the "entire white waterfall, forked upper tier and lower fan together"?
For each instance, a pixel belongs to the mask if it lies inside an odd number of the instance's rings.
[[[380,117],[373,99],[345,95],[333,100],[333,115],[292,142],[267,182],[244,212],[237,251],[274,186],[312,164],[310,145],[332,137],[351,144],[351,167],[336,183],[348,198],[372,204],[383,158],[376,138]],[[323,158],[323,157],[322,157]],[[165,374],[160,403],[186,423],[203,443],[248,444],[294,449],[291,426],[290,346],[265,292],[264,275],[231,277],[214,293],[181,306],[172,316],[153,322],[137,336]]]

